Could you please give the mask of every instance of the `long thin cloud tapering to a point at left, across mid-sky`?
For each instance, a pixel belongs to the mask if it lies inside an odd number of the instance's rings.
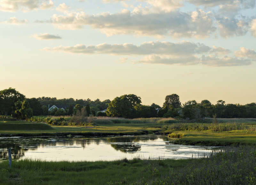
[[[83,44],[77,44],[75,46],[59,46],[55,48],[44,48],[46,51],[61,51],[67,53],[79,53],[79,54],[111,54],[111,55],[195,55],[207,53],[211,50],[210,47],[205,46],[202,43],[193,43],[188,41],[172,43],[172,42],[144,42],[140,46],[136,46],[130,43],[124,44],[98,44],[96,46],[85,46]]]

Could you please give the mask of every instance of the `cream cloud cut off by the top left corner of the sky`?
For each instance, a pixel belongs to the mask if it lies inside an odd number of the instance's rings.
[[[53,6],[52,0],[0,0],[0,11],[31,11],[35,9],[48,9]]]

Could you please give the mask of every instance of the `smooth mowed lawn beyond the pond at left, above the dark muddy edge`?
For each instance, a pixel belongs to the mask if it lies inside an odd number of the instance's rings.
[[[110,132],[110,133],[153,133],[160,130],[163,124],[112,124],[99,126],[50,126],[46,123],[32,123],[26,121],[0,121],[0,134],[17,133],[83,133],[83,132]]]

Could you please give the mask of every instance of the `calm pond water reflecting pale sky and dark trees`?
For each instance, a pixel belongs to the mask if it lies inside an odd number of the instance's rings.
[[[0,160],[98,161],[132,159],[188,159],[208,155],[216,147],[171,144],[166,136],[123,137],[0,137]]]

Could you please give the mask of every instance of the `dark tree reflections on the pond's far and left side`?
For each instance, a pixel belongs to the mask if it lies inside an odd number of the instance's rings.
[[[0,137],[0,160],[8,159],[8,148],[12,149],[12,159],[19,159],[28,150],[37,150],[46,146],[81,146],[90,144],[110,144],[116,151],[137,152],[141,150],[139,142],[155,140],[156,136],[138,137]]]

